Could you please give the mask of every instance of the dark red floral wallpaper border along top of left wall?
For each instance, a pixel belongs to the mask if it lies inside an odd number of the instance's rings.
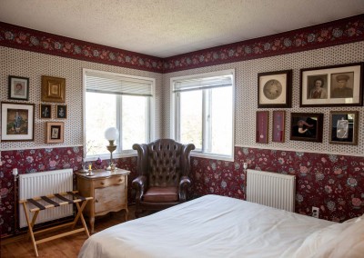
[[[0,22],[0,45],[48,55],[161,73],[163,60],[151,55],[97,45]]]

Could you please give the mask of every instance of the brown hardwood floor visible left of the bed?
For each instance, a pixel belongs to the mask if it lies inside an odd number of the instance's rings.
[[[129,214],[128,220],[135,219],[135,206],[131,205],[128,207]],[[124,211],[118,213],[106,214],[102,217],[96,217],[95,222],[95,233],[100,232],[110,226],[116,225],[118,223],[124,223]],[[86,218],[87,222],[87,218]],[[87,228],[89,229],[89,224],[87,222]],[[57,231],[56,233],[60,233]],[[46,236],[53,235],[54,233],[45,234],[44,236],[35,236],[35,240],[39,240]],[[76,233],[70,236],[62,237],[54,241],[47,243],[40,243],[37,245],[39,257],[67,257],[74,258],[77,257],[82,244],[86,241],[85,233]],[[1,257],[35,257],[35,252],[31,240],[22,238],[22,240],[15,243],[8,243],[1,246]]]

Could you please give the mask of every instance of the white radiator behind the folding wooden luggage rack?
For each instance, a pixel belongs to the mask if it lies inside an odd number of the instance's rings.
[[[19,200],[26,200],[29,198],[44,196],[52,193],[64,193],[73,190],[73,170],[62,169],[50,172],[40,172],[32,174],[19,174]],[[65,196],[67,197],[67,196]],[[44,202],[43,200],[39,203]],[[49,204],[49,203],[42,203]],[[34,208],[31,203],[27,204],[28,207]],[[40,211],[36,223],[45,223],[53,221],[66,216],[72,216],[74,213],[74,205],[63,205],[53,209],[46,209]],[[19,226],[23,228],[27,226],[24,208],[19,204]],[[29,213],[33,218],[34,213]]]

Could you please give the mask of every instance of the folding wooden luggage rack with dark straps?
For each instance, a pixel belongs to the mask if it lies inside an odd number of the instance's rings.
[[[55,239],[60,238],[60,237],[64,237],[66,235],[70,235],[70,234],[73,234],[73,233],[80,233],[80,232],[84,232],[84,231],[85,231],[87,237],[90,236],[90,234],[88,233],[88,230],[87,230],[85,218],[84,218],[84,215],[82,214],[82,211],[84,210],[87,201],[92,200],[93,197],[84,197],[84,196],[81,196],[81,195],[79,195],[77,193],[78,193],[78,191],[66,192],[66,193],[54,193],[54,194],[50,194],[50,195],[46,195],[46,196],[39,196],[39,197],[34,197],[34,198],[31,198],[31,199],[20,200],[19,201],[19,203],[22,203],[23,207],[24,207],[26,223],[28,224],[28,228],[29,228],[28,233],[29,233],[29,235],[30,235],[30,237],[32,239],[32,243],[33,243],[33,247],[35,249],[35,255],[36,256],[38,256],[38,251],[36,249],[36,244],[45,243],[45,242],[55,240]],[[67,194],[72,196],[72,200],[65,197],[65,195],[67,195]],[[58,200],[61,200],[61,202],[56,202],[55,200],[51,199],[51,198],[55,198],[55,197]],[[43,205],[42,203],[38,202],[40,200],[43,200],[43,201],[45,201],[46,203],[49,203],[49,204]],[[36,208],[31,208],[31,209],[28,208],[27,203],[32,203],[33,205],[35,205]],[[80,205],[80,203],[81,203],[81,205]],[[65,223],[65,224],[57,225],[57,226],[50,227],[50,228],[40,230],[40,231],[37,231],[37,232],[33,231],[33,227],[35,225],[36,217],[38,216],[40,211],[45,210],[45,209],[52,209],[52,208],[55,208],[55,207],[58,207],[58,206],[66,205],[66,204],[76,204],[76,207],[77,207],[77,210],[78,210],[78,212],[76,213],[75,220],[72,223]],[[32,221],[30,221],[29,212],[34,213]],[[75,226],[76,226],[76,223],[77,223],[78,219],[81,219],[83,227],[80,228],[80,229],[75,230]],[[45,233],[47,231],[59,229],[59,228],[62,228],[62,227],[66,227],[68,225],[72,226],[71,230],[69,232],[59,233],[59,234],[56,234],[56,235],[53,235],[53,236],[46,237],[44,239],[35,241],[35,234],[37,234],[37,233]]]

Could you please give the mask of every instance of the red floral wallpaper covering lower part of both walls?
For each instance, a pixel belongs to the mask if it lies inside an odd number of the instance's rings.
[[[19,174],[81,168],[82,147],[3,151],[1,179],[1,235],[11,235],[14,228],[15,188],[12,169]],[[194,197],[214,193],[245,199],[245,174],[248,168],[280,174],[295,174],[296,213],[309,215],[311,207],[320,208],[320,218],[345,221],[364,213],[364,157],[333,154],[235,148],[235,161],[224,162],[191,158],[191,192]],[[94,168],[105,168],[107,161]],[[131,172],[128,177],[129,203],[134,203],[131,182],[136,178],[136,157],[116,159],[119,168]],[[76,185],[76,184],[75,184]]]

